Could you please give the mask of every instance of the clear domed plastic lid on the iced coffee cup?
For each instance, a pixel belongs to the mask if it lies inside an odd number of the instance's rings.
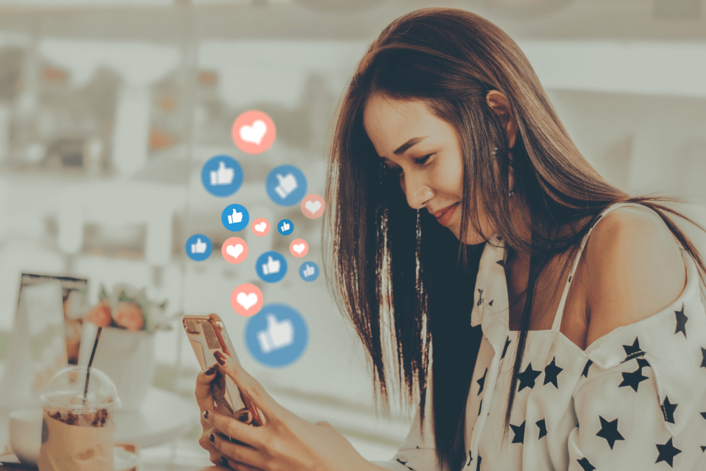
[[[91,367],[88,374],[88,390],[85,366],[68,366],[54,375],[44,386],[40,400],[42,405],[65,407],[72,410],[113,408],[120,406],[113,381],[100,369]]]

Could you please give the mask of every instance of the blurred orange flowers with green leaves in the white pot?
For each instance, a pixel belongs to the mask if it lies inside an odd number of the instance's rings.
[[[101,285],[100,300],[85,315],[85,321],[91,321],[101,327],[116,327],[126,330],[154,332],[171,330],[171,319],[165,314],[167,302],[157,304],[148,299],[145,290],[137,290],[126,284],[113,287],[109,294]]]

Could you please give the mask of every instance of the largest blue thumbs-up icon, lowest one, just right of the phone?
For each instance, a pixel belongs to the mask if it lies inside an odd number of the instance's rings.
[[[265,304],[245,326],[245,343],[253,357],[265,366],[288,366],[306,350],[309,328],[294,308]]]

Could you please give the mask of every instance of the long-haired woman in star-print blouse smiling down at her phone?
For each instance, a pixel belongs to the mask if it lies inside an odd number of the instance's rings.
[[[330,281],[379,392],[402,386],[417,417],[393,460],[369,463],[224,357],[268,424],[213,412],[200,374],[214,463],[706,469],[706,267],[667,213],[683,216],[590,167],[508,35],[456,9],[395,20],[352,78],[331,155]]]

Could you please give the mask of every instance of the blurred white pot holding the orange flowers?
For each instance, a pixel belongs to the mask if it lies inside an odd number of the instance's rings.
[[[88,365],[93,350],[97,326],[83,322],[79,366]],[[143,330],[133,332],[104,327],[93,358],[93,366],[107,374],[115,383],[121,409],[140,409],[155,376],[155,334]]]

